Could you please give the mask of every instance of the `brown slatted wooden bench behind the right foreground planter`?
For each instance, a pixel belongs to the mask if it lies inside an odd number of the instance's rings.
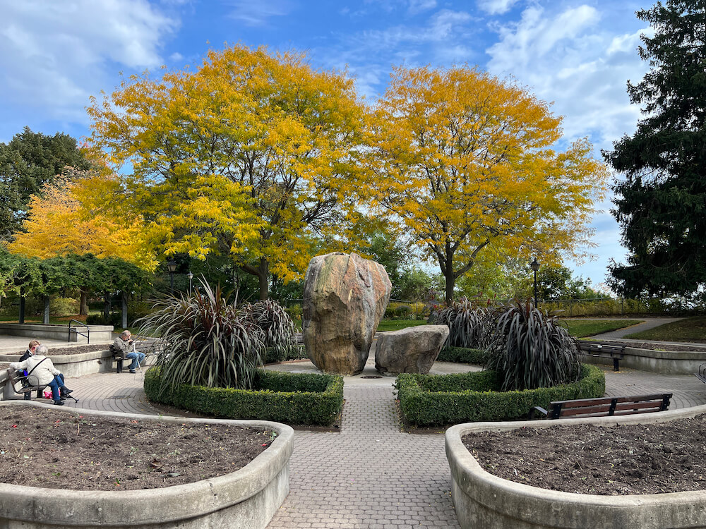
[[[534,406],[527,414],[532,420],[541,413],[545,418],[584,418],[632,415],[633,413],[651,413],[669,408],[671,393],[654,395],[635,395],[626,397],[602,397],[600,399],[578,399],[575,401],[556,401],[549,403],[549,411],[542,406]]]

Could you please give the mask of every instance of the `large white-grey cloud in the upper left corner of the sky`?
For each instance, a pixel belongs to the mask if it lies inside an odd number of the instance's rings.
[[[107,68],[158,66],[178,26],[145,0],[0,0],[0,15],[0,97],[78,121]]]

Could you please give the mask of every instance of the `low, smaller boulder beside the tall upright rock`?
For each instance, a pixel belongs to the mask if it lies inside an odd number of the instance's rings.
[[[375,368],[383,375],[426,375],[447,337],[446,325],[419,325],[385,332],[375,347]]]

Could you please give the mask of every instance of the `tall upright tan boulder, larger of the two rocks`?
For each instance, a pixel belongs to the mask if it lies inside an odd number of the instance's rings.
[[[354,253],[314,257],[304,279],[301,324],[313,364],[339,375],[361,372],[390,291],[388,273],[374,261]]]

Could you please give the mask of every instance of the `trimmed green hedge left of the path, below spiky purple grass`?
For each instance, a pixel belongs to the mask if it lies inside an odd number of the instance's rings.
[[[159,373],[145,373],[148,399],[183,410],[229,419],[259,419],[292,425],[330,425],[343,406],[343,377],[258,370],[257,389],[182,384],[161,395]]]

